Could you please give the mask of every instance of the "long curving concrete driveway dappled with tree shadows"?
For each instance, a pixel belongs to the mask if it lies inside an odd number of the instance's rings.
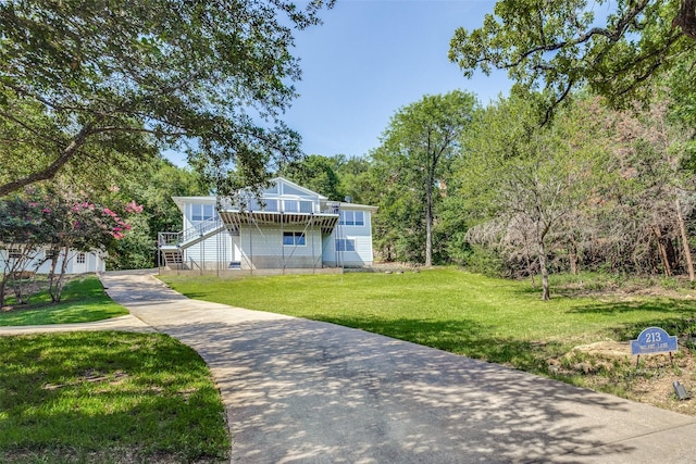
[[[332,324],[105,273],[133,316],[197,350],[234,463],[692,463],[696,418]],[[327,297],[330,298],[330,297]]]

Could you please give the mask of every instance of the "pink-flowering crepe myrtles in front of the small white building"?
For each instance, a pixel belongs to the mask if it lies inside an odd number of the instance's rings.
[[[127,218],[141,212],[135,201],[109,208],[84,192],[55,187],[44,191],[28,188],[2,199],[0,305],[7,283],[17,273],[48,274],[51,299],[60,301],[64,276],[103,271],[104,250],[126,237],[132,229]],[[101,268],[90,269],[87,256],[100,260]]]

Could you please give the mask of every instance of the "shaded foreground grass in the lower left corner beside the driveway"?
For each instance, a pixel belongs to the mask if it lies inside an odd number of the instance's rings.
[[[0,337],[0,463],[223,462],[206,363],[161,334]]]

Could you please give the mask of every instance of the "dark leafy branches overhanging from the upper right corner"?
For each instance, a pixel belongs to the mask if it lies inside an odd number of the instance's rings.
[[[507,70],[525,88],[546,90],[546,108],[583,85],[618,105],[647,101],[652,84],[696,48],[689,1],[499,0],[494,11],[480,28],[457,29],[449,59],[468,77]]]

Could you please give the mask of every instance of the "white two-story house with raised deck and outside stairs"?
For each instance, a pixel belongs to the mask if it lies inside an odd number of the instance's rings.
[[[370,266],[376,206],[330,201],[283,177],[259,198],[174,197],[184,230],[160,233],[161,266],[254,272]]]

